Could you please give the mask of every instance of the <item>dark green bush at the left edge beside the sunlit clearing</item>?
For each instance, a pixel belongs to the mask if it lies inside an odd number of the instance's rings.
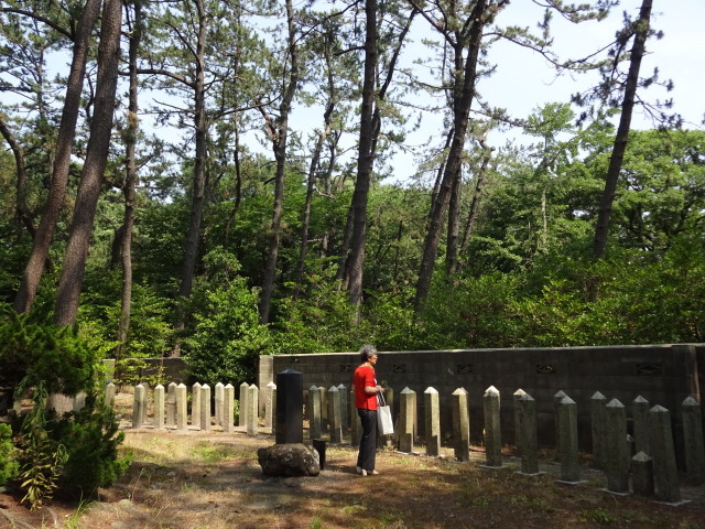
[[[0,386],[15,388],[15,398],[33,401],[12,440],[24,500],[36,508],[55,492],[88,497],[97,487],[111,484],[128,465],[118,456],[123,434],[118,433],[115,414],[96,399],[105,343],[77,327],[56,327],[6,312],[0,361],[9,369],[2,370]],[[86,406],[78,412],[57,418],[46,407],[51,393],[82,391],[87,393]],[[12,468],[8,466],[8,472]]]

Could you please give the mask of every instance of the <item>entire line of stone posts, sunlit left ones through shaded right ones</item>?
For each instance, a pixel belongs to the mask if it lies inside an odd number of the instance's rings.
[[[112,390],[113,391],[113,390]],[[175,425],[177,430],[187,428],[186,387],[171,384],[154,388],[154,420],[156,429]],[[275,429],[276,386],[270,382],[264,391],[264,430]],[[426,454],[441,454],[440,396],[434,388],[423,395]],[[387,402],[394,404],[394,392],[388,388]],[[564,391],[553,398],[555,415],[556,458],[561,464],[560,481],[581,483],[578,460],[577,404]],[[195,384],[192,388],[191,425],[197,430],[210,430],[213,423],[225,432],[234,430],[234,388],[231,385],[216,385],[215,417],[210,415],[210,388]],[[259,430],[259,389],[242,384],[239,395],[239,422],[248,435]],[[402,452],[414,451],[416,439],[416,393],[404,388],[399,395],[399,418],[395,438]],[[458,388],[452,395],[453,443],[455,456],[469,461],[469,412],[468,392]],[[489,387],[482,396],[484,441],[486,461],[482,466],[502,466],[500,431],[500,395]],[[521,458],[521,473],[536,475],[539,471],[536,404],[523,390],[513,393],[514,444]],[[147,388],[138,386],[134,391],[133,428],[140,428],[147,418]],[[173,411],[172,411],[173,410]],[[319,440],[325,434],[332,443],[341,443],[345,432],[350,432],[350,444],[359,444],[360,424],[355,409],[355,396],[345,385],[328,389],[312,386],[305,396],[306,417],[310,421],[308,436]],[[617,399],[607,401],[598,391],[590,399],[593,460],[596,468],[607,477],[606,490],[612,494],[629,494],[629,478],[634,494],[652,495],[668,503],[681,500],[673,434],[670,412],[661,406],[651,407],[642,397],[633,401],[633,445],[636,455],[631,457],[631,438],[627,434],[627,413]],[[705,446],[699,403],[687,398],[682,403],[683,438],[685,441],[685,469],[690,483],[705,483]],[[303,429],[303,425],[301,427]],[[303,438],[302,438],[303,439]]]

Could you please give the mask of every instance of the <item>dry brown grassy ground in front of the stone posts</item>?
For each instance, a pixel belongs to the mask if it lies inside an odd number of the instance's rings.
[[[0,495],[0,528],[705,529],[705,487],[685,489],[693,500],[672,507],[604,493],[598,474],[570,486],[551,473],[519,475],[512,463],[486,469],[479,452],[468,464],[381,450],[380,475],[361,477],[355,449],[345,446],[328,446],[317,477],[271,478],[257,462],[257,449],[273,443],[269,435],[126,433],[133,464],[99,500],[30,512]]]

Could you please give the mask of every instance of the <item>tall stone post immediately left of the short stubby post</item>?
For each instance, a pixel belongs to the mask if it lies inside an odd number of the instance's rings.
[[[629,494],[629,452],[627,452],[627,412],[617,399],[610,400],[606,411],[606,457],[607,490]]]

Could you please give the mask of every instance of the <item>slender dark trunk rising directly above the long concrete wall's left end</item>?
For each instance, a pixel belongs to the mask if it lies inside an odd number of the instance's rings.
[[[294,28],[294,8],[292,0],[286,0],[286,23],[289,26],[289,57],[291,69],[288,85],[284,88],[284,96],[279,106],[279,118],[276,126],[270,131],[272,133],[272,144],[274,158],[276,159],[276,174],[274,183],[274,207],[272,210],[272,225],[269,238],[269,253],[264,266],[264,280],[262,282],[262,295],[260,298],[260,322],[269,322],[269,313],[274,290],[274,276],[276,274],[276,257],[282,237],[282,215],[284,213],[284,173],[286,169],[286,142],[289,134],[289,114],[291,104],[296,93],[299,84],[299,51],[296,50],[296,32]]]

